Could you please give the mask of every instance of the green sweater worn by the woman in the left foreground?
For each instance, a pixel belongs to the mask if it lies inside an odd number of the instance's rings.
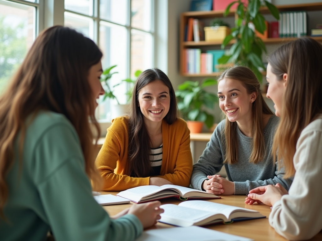
[[[70,121],[40,112],[26,130],[21,172],[18,139],[6,182],[0,240],[134,240],[143,227],[135,215],[111,219],[94,200],[78,135]]]

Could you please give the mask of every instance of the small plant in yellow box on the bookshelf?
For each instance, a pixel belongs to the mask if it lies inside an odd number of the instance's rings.
[[[214,18],[209,25],[209,27],[204,27],[205,41],[221,41],[230,34],[229,24],[220,18]]]

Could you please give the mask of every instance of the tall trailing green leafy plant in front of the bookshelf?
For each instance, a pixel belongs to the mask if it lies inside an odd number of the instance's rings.
[[[256,36],[255,30],[264,33],[266,30],[265,19],[260,13],[260,7],[266,6],[270,13],[279,19],[279,11],[277,8],[266,0],[248,0],[234,1],[229,4],[224,12],[227,16],[233,4],[238,3],[235,20],[235,27],[232,28],[232,33],[227,35],[223,40],[222,49],[226,47],[231,40],[235,43],[230,48],[229,55],[223,55],[218,60],[219,64],[226,64],[227,62],[234,62],[237,65],[244,65],[250,67],[256,74],[259,81],[262,80],[262,75],[258,67],[265,69],[261,60],[262,52],[266,53],[266,47],[259,37]]]

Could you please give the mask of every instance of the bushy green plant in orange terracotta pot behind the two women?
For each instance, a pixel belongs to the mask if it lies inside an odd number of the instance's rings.
[[[192,133],[200,133],[204,123],[208,128],[213,125],[214,117],[206,111],[206,108],[213,109],[218,97],[205,91],[205,88],[216,84],[217,81],[211,78],[204,79],[200,85],[198,81],[185,81],[175,92],[178,109],[184,119],[188,120],[188,128]],[[193,129],[194,125],[198,128]]]

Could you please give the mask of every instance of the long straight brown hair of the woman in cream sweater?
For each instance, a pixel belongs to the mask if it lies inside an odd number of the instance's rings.
[[[284,178],[295,174],[293,156],[301,131],[322,113],[322,46],[316,40],[300,38],[276,49],[268,58],[272,73],[287,83],[272,154],[285,166]]]

